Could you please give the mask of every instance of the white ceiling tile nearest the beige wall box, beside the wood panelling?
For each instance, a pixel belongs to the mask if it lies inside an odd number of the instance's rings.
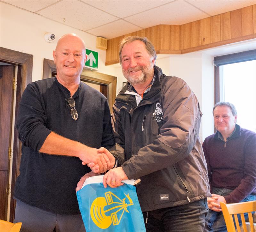
[[[99,26],[92,30],[88,30],[86,32],[91,33],[96,36],[103,36],[107,39],[112,39],[124,34],[128,34],[134,31],[139,31],[142,28],[132,25],[122,19],[119,19],[115,22],[108,23],[103,26]]]

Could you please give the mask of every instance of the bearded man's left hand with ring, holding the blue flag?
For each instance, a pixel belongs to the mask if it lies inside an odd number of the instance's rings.
[[[110,169],[103,177],[103,185],[107,188],[107,184],[111,188],[116,188],[118,186],[123,185],[121,183],[122,180],[127,180],[128,177],[126,176],[122,167]]]

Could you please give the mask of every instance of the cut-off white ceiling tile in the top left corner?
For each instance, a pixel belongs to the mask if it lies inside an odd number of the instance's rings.
[[[12,4],[14,6],[18,6],[22,9],[28,10],[28,11],[38,11],[46,6],[49,6],[53,3],[58,2],[59,0],[26,0],[26,1],[20,1],[20,0],[2,0],[3,2]]]

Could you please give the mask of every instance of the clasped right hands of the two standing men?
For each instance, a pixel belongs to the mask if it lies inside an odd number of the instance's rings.
[[[87,147],[87,151],[78,156],[82,164],[90,167],[93,173],[104,173],[114,167],[116,158],[104,147]]]

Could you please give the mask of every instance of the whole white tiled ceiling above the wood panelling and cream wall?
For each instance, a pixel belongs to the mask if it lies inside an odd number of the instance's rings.
[[[1,0],[107,39],[159,24],[182,25],[256,0]]]

